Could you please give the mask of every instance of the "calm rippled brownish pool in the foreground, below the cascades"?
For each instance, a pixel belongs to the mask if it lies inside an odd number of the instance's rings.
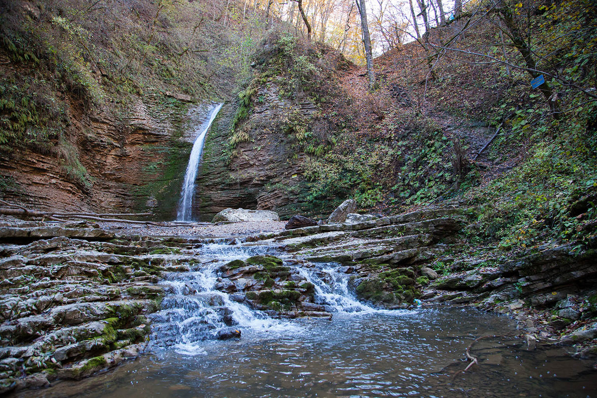
[[[470,308],[339,313],[287,320],[292,332],[248,329],[187,356],[160,349],[106,374],[21,397],[591,397],[590,363],[527,352],[512,320]],[[584,372],[584,373],[583,373]]]

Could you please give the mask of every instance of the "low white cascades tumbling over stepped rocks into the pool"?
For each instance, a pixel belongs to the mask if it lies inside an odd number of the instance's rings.
[[[162,310],[151,316],[155,344],[195,355],[204,353],[202,341],[216,338],[219,331],[230,326],[269,334],[301,330],[300,323],[274,319],[265,311],[253,310],[242,303],[242,293],[228,294],[217,289],[220,270],[229,261],[246,260],[254,255],[280,255],[272,246],[230,243],[205,244],[199,252],[202,264],[188,272],[170,273],[161,282],[168,294],[162,300]],[[377,311],[353,297],[348,287],[349,276],[337,271],[334,264],[296,270],[315,285],[315,301],[328,311],[343,314]]]

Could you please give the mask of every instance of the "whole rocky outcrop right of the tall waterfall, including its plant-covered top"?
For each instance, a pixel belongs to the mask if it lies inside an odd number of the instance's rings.
[[[336,80],[349,63],[323,45],[288,49],[283,41],[266,40],[240,103],[223,107],[206,139],[196,183],[196,211],[204,220],[227,207],[272,209],[282,217],[317,212],[307,202],[305,166],[339,129],[333,115],[347,95]]]

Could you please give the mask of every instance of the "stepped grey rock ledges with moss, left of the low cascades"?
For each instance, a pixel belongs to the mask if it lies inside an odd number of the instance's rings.
[[[184,244],[85,223],[0,227],[0,391],[81,378],[143,351]]]

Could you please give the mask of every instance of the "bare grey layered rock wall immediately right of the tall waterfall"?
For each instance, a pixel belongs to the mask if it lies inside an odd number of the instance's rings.
[[[239,143],[238,155],[226,154],[233,105],[223,109],[204,149],[201,174],[197,180],[198,210],[208,220],[222,209],[250,208],[279,210],[294,203],[293,189],[304,183],[303,151],[293,159],[293,147],[282,124],[297,112],[306,117],[317,109],[306,98],[302,101],[279,99],[276,85],[260,87],[251,116],[244,126],[250,141]],[[282,209],[284,212],[284,209]]]

